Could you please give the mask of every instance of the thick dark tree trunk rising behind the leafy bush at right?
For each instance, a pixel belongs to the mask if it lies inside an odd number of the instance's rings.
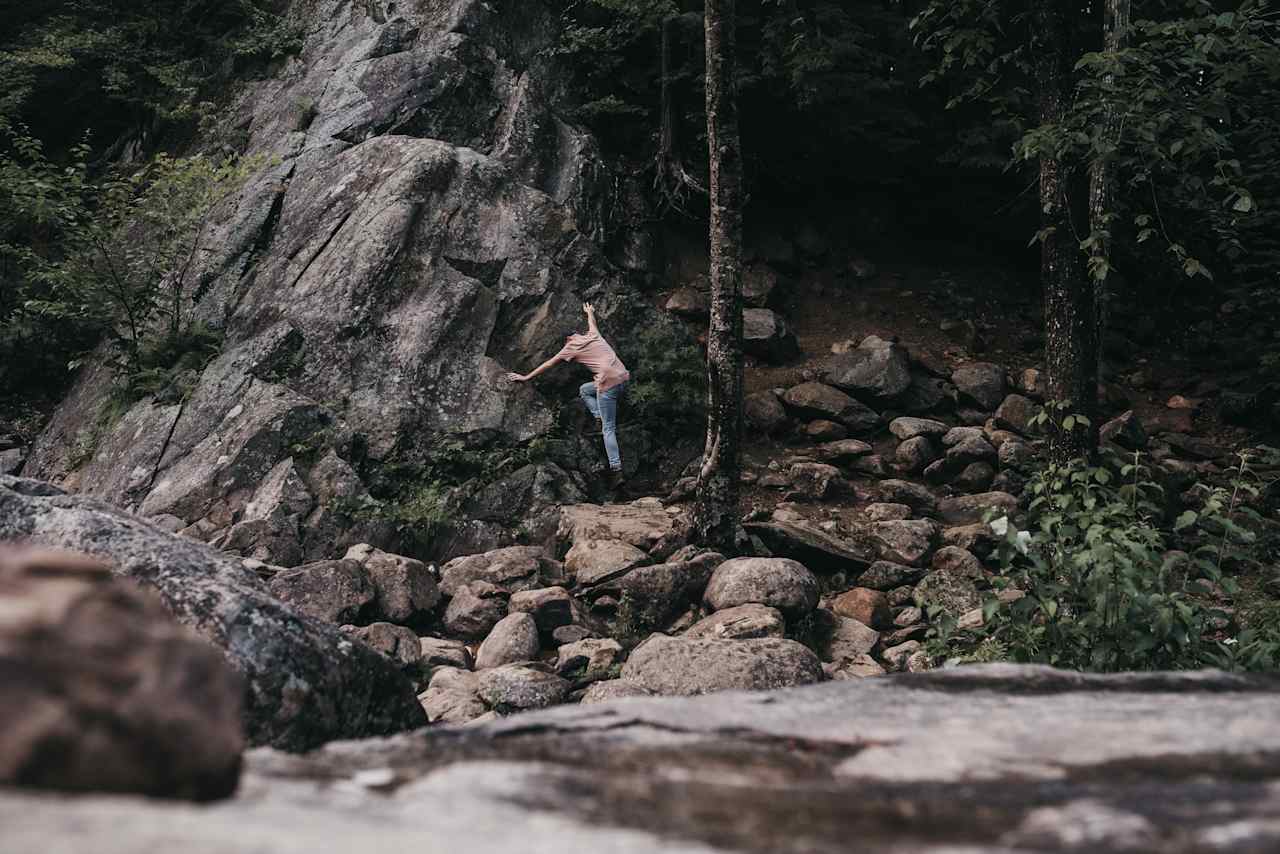
[[[1070,20],[1074,4],[1036,3],[1036,81],[1042,125],[1062,125],[1070,96]],[[1098,443],[1098,329],[1093,283],[1082,269],[1082,252],[1071,224],[1071,179],[1066,164],[1051,151],[1039,157],[1041,283],[1044,288],[1044,361],[1048,398],[1065,405],[1061,416],[1085,416],[1050,433],[1050,457],[1065,462],[1093,457]]]

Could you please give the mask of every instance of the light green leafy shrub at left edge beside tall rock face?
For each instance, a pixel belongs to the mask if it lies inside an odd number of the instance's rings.
[[[0,150],[0,352],[52,374],[100,338],[136,396],[202,367],[219,335],[192,318],[219,204],[262,159],[157,155],[93,178],[88,146],[56,166],[29,134]],[[4,376],[13,382],[15,378]]]

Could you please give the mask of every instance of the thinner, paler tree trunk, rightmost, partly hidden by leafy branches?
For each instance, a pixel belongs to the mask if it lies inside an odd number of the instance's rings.
[[[1103,0],[1102,49],[1112,59],[1124,47],[1129,29],[1129,0]],[[1111,273],[1111,223],[1115,219],[1115,174],[1111,160],[1120,142],[1120,117],[1116,109],[1115,74],[1103,76],[1107,102],[1103,113],[1102,146],[1089,173],[1089,275],[1094,284],[1098,338],[1107,328],[1107,275]],[[1103,375],[1102,347],[1098,347],[1098,375]]]

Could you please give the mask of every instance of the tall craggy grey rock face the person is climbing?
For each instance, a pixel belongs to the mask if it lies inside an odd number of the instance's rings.
[[[544,397],[503,375],[559,350],[584,297],[628,361],[632,332],[667,321],[604,251],[626,237],[604,215],[626,182],[561,118],[547,9],[288,5],[302,51],[220,123],[221,142],[274,157],[219,211],[192,275],[221,353],[182,402],[143,399],[106,428],[109,376],[91,366],[26,474],[293,566],[385,544],[349,533],[344,502],[433,443],[545,433],[582,378],[564,369]]]

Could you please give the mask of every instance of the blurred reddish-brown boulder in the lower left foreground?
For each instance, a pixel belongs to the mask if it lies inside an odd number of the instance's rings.
[[[236,791],[243,681],[154,593],[83,554],[3,549],[0,602],[0,784]]]

